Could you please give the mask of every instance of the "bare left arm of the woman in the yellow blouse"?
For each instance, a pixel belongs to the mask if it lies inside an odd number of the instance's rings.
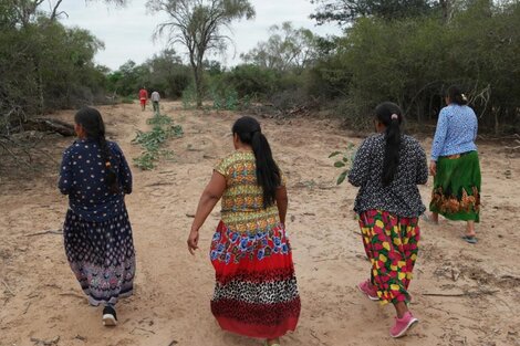
[[[200,196],[197,212],[195,213],[195,219],[191,223],[191,231],[188,237],[189,253],[194,254],[194,251],[198,249],[199,229],[202,227],[204,221],[206,221],[206,218],[208,218],[211,210],[214,210],[214,207],[217,205],[220,197],[222,197],[225,190],[226,178],[215,170],[211,176],[211,180],[209,180],[206,189]]]

